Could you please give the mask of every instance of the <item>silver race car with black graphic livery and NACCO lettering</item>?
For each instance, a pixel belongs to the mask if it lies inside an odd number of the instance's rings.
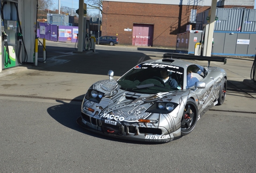
[[[98,81],[87,91],[77,123],[134,141],[169,142],[187,135],[206,111],[225,100],[227,73],[210,67],[210,61],[225,64],[226,58],[164,54],[163,59],[136,65],[117,80],[109,70],[109,80]]]

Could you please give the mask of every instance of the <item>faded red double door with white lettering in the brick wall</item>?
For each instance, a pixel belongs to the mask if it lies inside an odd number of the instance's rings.
[[[153,46],[153,24],[133,24],[132,45]]]

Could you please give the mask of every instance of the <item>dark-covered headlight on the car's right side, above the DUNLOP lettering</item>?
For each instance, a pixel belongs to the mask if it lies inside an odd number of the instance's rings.
[[[170,113],[178,106],[177,103],[171,102],[157,102],[154,103],[149,109],[146,111],[148,113]]]

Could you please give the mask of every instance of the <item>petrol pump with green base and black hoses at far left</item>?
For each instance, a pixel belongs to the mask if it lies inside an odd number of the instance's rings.
[[[0,56],[2,69],[20,65],[20,56],[17,54],[19,40],[19,22],[17,13],[18,0],[1,1],[1,36],[2,55]],[[1,70],[2,70],[1,69]]]

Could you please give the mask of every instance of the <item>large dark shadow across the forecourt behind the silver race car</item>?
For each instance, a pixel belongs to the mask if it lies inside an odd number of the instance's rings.
[[[54,52],[54,46],[49,47],[48,49],[52,49],[52,51],[48,53],[48,56],[57,56],[54,60],[62,61],[57,65],[44,68],[44,71],[106,75],[109,70],[113,70],[115,76],[122,76],[140,62],[151,59],[140,52],[110,50],[97,50],[97,52],[90,54],[58,54]],[[63,63],[64,60],[66,61]],[[49,61],[46,61],[46,63],[49,63]],[[38,66],[43,65],[43,63],[40,63]]]

